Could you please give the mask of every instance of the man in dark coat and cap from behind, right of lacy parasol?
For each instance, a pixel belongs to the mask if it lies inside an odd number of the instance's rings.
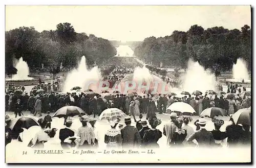
[[[131,126],[131,117],[125,117],[124,123],[126,126],[121,129],[123,148],[138,148],[141,143],[141,138],[137,128]]]

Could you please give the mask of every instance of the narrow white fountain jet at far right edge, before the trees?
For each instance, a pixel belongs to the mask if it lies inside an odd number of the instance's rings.
[[[242,58],[238,58],[237,63],[233,64],[233,79],[227,79],[230,82],[244,82],[250,83],[248,70],[246,63]]]

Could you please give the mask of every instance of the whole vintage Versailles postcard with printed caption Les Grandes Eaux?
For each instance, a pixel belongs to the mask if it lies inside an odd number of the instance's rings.
[[[251,6],[6,6],[6,163],[251,162]]]

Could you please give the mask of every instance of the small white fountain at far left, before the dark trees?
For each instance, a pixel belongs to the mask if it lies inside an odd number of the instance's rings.
[[[12,78],[6,78],[6,81],[14,80],[32,80],[33,78],[28,77],[29,75],[29,66],[26,61],[23,61],[23,58],[20,57],[19,60],[15,60],[13,63],[14,67],[17,69],[17,74]]]

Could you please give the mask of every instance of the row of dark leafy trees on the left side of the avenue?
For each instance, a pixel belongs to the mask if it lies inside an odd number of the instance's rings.
[[[84,55],[87,64],[100,64],[116,55],[109,40],[75,32],[70,23],[59,23],[56,30],[37,32],[33,27],[7,31],[6,71],[12,72],[13,59],[23,57],[30,70],[59,66],[73,68]],[[52,69],[52,68],[50,68]]]

